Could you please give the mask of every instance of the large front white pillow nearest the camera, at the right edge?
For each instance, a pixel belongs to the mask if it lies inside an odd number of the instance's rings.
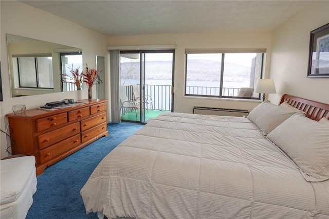
[[[296,165],[306,181],[329,179],[329,126],[295,114],[267,135]]]

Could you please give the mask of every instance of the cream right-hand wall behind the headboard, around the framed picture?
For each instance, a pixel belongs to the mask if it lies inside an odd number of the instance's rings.
[[[306,78],[310,31],[329,23],[329,1],[314,1],[273,31],[270,77],[283,94],[329,103],[329,78]]]

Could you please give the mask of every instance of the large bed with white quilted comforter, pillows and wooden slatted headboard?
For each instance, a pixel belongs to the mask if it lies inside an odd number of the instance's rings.
[[[161,114],[90,175],[107,218],[329,218],[329,104],[283,95],[247,117]]]

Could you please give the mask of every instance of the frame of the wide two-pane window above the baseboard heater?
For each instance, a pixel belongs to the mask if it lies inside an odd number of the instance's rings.
[[[219,95],[198,95],[198,94],[187,94],[187,69],[188,69],[188,54],[208,54],[208,53],[221,53],[221,67],[220,67],[220,87]],[[226,53],[261,53],[262,62],[260,68],[260,78],[262,78],[265,62],[266,62],[266,49],[263,48],[243,48],[243,49],[186,49],[185,50],[185,86],[184,95],[186,97],[207,97],[207,98],[223,98],[223,99],[248,99],[248,100],[260,100],[261,94],[258,97],[237,97],[237,96],[224,96],[223,95],[223,80],[224,80],[224,65],[225,65],[225,54]]]

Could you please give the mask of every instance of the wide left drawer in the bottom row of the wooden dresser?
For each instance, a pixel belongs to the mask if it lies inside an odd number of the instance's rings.
[[[40,163],[46,163],[57,156],[76,148],[80,144],[80,134],[72,136],[39,151]]]

